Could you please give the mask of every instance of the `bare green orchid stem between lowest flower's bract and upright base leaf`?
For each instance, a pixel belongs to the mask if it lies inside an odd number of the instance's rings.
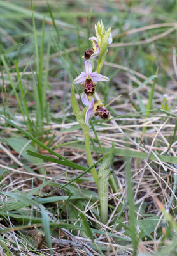
[[[94,165],[94,163],[92,161],[92,155],[91,155],[91,150],[90,150],[89,132],[84,132],[84,138],[85,138],[85,151],[86,151],[86,155],[87,155],[88,166],[90,167],[90,166]],[[96,172],[96,168],[92,168],[91,173],[92,173],[92,176],[94,177],[94,180],[96,182],[96,186],[98,188],[98,175],[97,175],[97,172]]]

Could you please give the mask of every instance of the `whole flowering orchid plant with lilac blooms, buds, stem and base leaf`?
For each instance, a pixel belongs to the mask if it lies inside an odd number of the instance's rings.
[[[106,54],[108,52],[108,45],[112,42],[112,35],[111,35],[111,28],[109,28],[107,31],[104,28],[102,20],[97,23],[95,26],[96,29],[96,36],[90,37],[89,40],[92,41],[92,49],[87,49],[84,53],[84,58],[86,59],[84,65],[85,65],[85,72],[81,72],[78,77],[76,77],[73,81],[73,84],[71,86],[71,104],[73,108],[74,115],[76,116],[81,128],[83,129],[83,133],[85,136],[85,150],[87,154],[87,161],[89,167],[92,167],[93,161],[92,161],[92,155],[90,150],[90,135],[89,135],[89,122],[92,115],[98,116],[102,119],[110,118],[109,111],[104,107],[104,102],[102,100],[97,100],[97,102],[94,101],[94,95],[97,88],[97,83],[99,81],[105,81],[108,82],[110,79],[106,76],[103,76],[100,74],[101,68],[103,67],[104,61],[106,59]],[[95,58],[98,57],[97,61],[97,67],[96,70],[94,70],[94,61]],[[84,88],[83,95],[81,97],[81,100],[83,104],[85,105],[85,109],[83,110],[83,113],[81,113],[80,108],[78,106],[78,102],[76,100],[75,96],[75,90],[74,90],[74,84],[81,84]],[[113,155],[113,150],[111,151],[111,156]],[[106,162],[106,166],[109,166],[111,163],[112,157],[108,157],[109,163]],[[103,166],[105,165],[104,159],[103,159]],[[106,178],[106,186],[105,182],[102,182],[101,179],[99,179],[99,176],[96,172],[95,168],[91,169],[92,175],[94,177],[94,180],[96,182],[97,188],[101,188],[103,191],[103,187],[106,188],[106,191],[108,190],[108,175]],[[99,173],[101,171],[99,170]],[[104,173],[105,174],[105,173]],[[109,174],[109,170],[108,170]],[[104,175],[101,175],[104,176]],[[101,183],[102,182],[102,183]],[[103,186],[102,186],[103,185]],[[105,200],[101,200],[101,193],[99,189],[99,197],[100,202],[104,202]],[[105,193],[104,193],[105,194]],[[107,195],[108,196],[108,195]],[[103,198],[102,198],[103,199]],[[102,203],[101,203],[102,204]],[[108,207],[107,207],[108,208]],[[105,209],[105,204],[104,204]],[[106,220],[106,211],[104,212],[104,220]]]

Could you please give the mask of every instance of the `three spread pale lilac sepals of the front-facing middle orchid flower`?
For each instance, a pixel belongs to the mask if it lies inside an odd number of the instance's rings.
[[[110,81],[110,79],[106,76],[103,76],[101,74],[97,74],[97,72],[92,73],[92,63],[91,61],[85,61],[85,72],[81,72],[81,74],[74,79],[73,83],[78,84],[78,83],[83,83],[87,79],[87,77],[92,77],[93,82],[98,82],[98,81]]]

